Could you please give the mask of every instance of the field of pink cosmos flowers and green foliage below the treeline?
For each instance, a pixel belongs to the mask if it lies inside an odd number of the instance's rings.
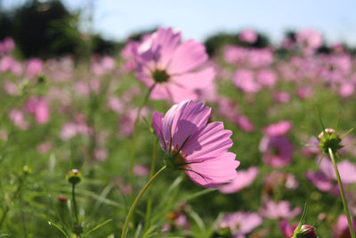
[[[1,41],[0,236],[355,237],[355,54],[238,37],[82,61]]]

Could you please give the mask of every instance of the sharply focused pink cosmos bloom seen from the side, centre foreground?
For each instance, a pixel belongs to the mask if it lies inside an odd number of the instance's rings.
[[[153,112],[152,126],[166,152],[166,165],[183,170],[197,185],[217,187],[237,176],[239,161],[228,152],[232,146],[231,131],[223,122],[212,122],[211,108],[203,102],[183,101],[166,115]]]

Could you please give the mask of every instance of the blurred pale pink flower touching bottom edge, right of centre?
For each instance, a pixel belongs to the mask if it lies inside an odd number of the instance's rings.
[[[255,212],[238,211],[227,214],[220,221],[218,230],[229,229],[233,238],[245,238],[257,226],[263,223],[263,218]]]

